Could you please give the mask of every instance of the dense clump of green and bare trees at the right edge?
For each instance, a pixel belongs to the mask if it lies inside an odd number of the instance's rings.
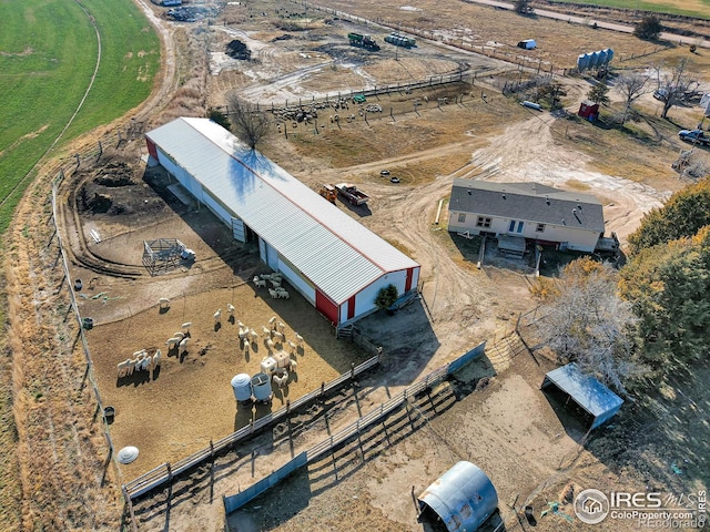
[[[710,352],[710,176],[648,213],[620,268],[589,257],[540,278],[539,327],[560,364],[576,361],[621,393]]]

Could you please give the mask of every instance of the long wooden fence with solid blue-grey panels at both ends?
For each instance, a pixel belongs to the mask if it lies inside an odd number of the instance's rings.
[[[256,484],[251,485],[248,489],[235,495],[223,495],[222,501],[224,503],[225,513],[229,515],[230,513],[239,510],[248,501],[260,495],[268,488],[275,485],[292,472],[296,471],[300,467],[306,466],[323,457],[324,454],[332,452],[338,446],[347,442],[349,439],[356,437],[371,426],[382,421],[392,411],[398,409],[404,402],[408,401],[409,398],[416,397],[427,388],[442,382],[448,375],[459,370],[471,360],[481,356],[485,350],[486,342],[484,341],[476,346],[474,349],[458,357],[453,362],[449,362],[442,368],[435,369],[423,379],[419,379],[414,385],[405,388],[402,392],[397,393],[388,401],[382,402],[379,405],[379,408],[372,410],[362,418],[358,418],[354,423],[348,424],[335,434],[332,434],[329,438],[323,440],[321,443],[317,443],[311,449],[306,450],[304,453],[298,454],[281,469],[260,480]]]

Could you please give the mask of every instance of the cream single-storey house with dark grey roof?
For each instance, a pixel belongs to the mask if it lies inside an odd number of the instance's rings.
[[[457,178],[452,187],[448,231],[594,252],[605,225],[601,203],[591,194],[539,183]]]

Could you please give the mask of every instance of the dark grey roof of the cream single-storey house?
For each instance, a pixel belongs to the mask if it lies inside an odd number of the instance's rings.
[[[601,203],[591,194],[539,183],[454,180],[449,211],[604,233]]]

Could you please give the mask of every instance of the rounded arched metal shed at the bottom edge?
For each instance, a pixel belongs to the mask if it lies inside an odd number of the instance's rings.
[[[449,532],[474,532],[498,508],[490,479],[470,462],[460,461],[418,498],[419,516],[434,512]]]

